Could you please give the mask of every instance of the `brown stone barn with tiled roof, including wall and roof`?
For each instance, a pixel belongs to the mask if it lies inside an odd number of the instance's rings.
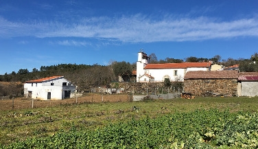
[[[196,96],[237,95],[237,71],[189,71],[184,91]]]

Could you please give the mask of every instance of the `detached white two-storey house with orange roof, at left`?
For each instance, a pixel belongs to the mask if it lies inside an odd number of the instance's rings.
[[[26,81],[24,95],[39,100],[63,100],[71,98],[75,87],[64,76],[52,76],[38,80]]]

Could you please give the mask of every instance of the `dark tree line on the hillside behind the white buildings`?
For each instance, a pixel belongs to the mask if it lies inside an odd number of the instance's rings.
[[[155,54],[150,54],[150,63],[178,63],[178,62],[209,62],[213,64],[223,65],[229,67],[232,65],[239,65],[239,71],[258,71],[258,54],[255,53],[250,58],[233,59],[228,58],[221,60],[221,56],[216,55],[213,58],[197,58],[189,57],[183,59],[165,58],[158,60]],[[41,66],[40,69],[19,69],[18,72],[5,73],[0,75],[0,82],[25,82],[27,80],[35,80],[39,78],[46,78],[49,76],[65,76],[67,80],[77,85],[80,90],[90,89],[91,87],[102,87],[110,84],[110,82],[117,82],[119,76],[126,82],[136,82],[135,76],[132,76],[132,71],[136,70],[136,62],[130,63],[126,61],[111,62],[110,65],[77,65],[77,64],[58,64],[51,66]],[[20,87],[21,85],[12,85],[13,87]],[[12,87],[9,87],[12,88]],[[6,85],[0,84],[0,95],[8,94],[9,89]],[[4,91],[3,91],[4,90]],[[18,89],[15,91],[21,91]]]

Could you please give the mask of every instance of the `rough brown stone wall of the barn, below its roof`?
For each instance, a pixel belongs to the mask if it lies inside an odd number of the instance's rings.
[[[237,95],[237,79],[189,79],[184,84],[185,92],[195,96]]]

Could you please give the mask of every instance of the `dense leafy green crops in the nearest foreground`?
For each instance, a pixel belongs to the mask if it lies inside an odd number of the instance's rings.
[[[60,131],[0,148],[258,148],[258,114],[198,110]]]

